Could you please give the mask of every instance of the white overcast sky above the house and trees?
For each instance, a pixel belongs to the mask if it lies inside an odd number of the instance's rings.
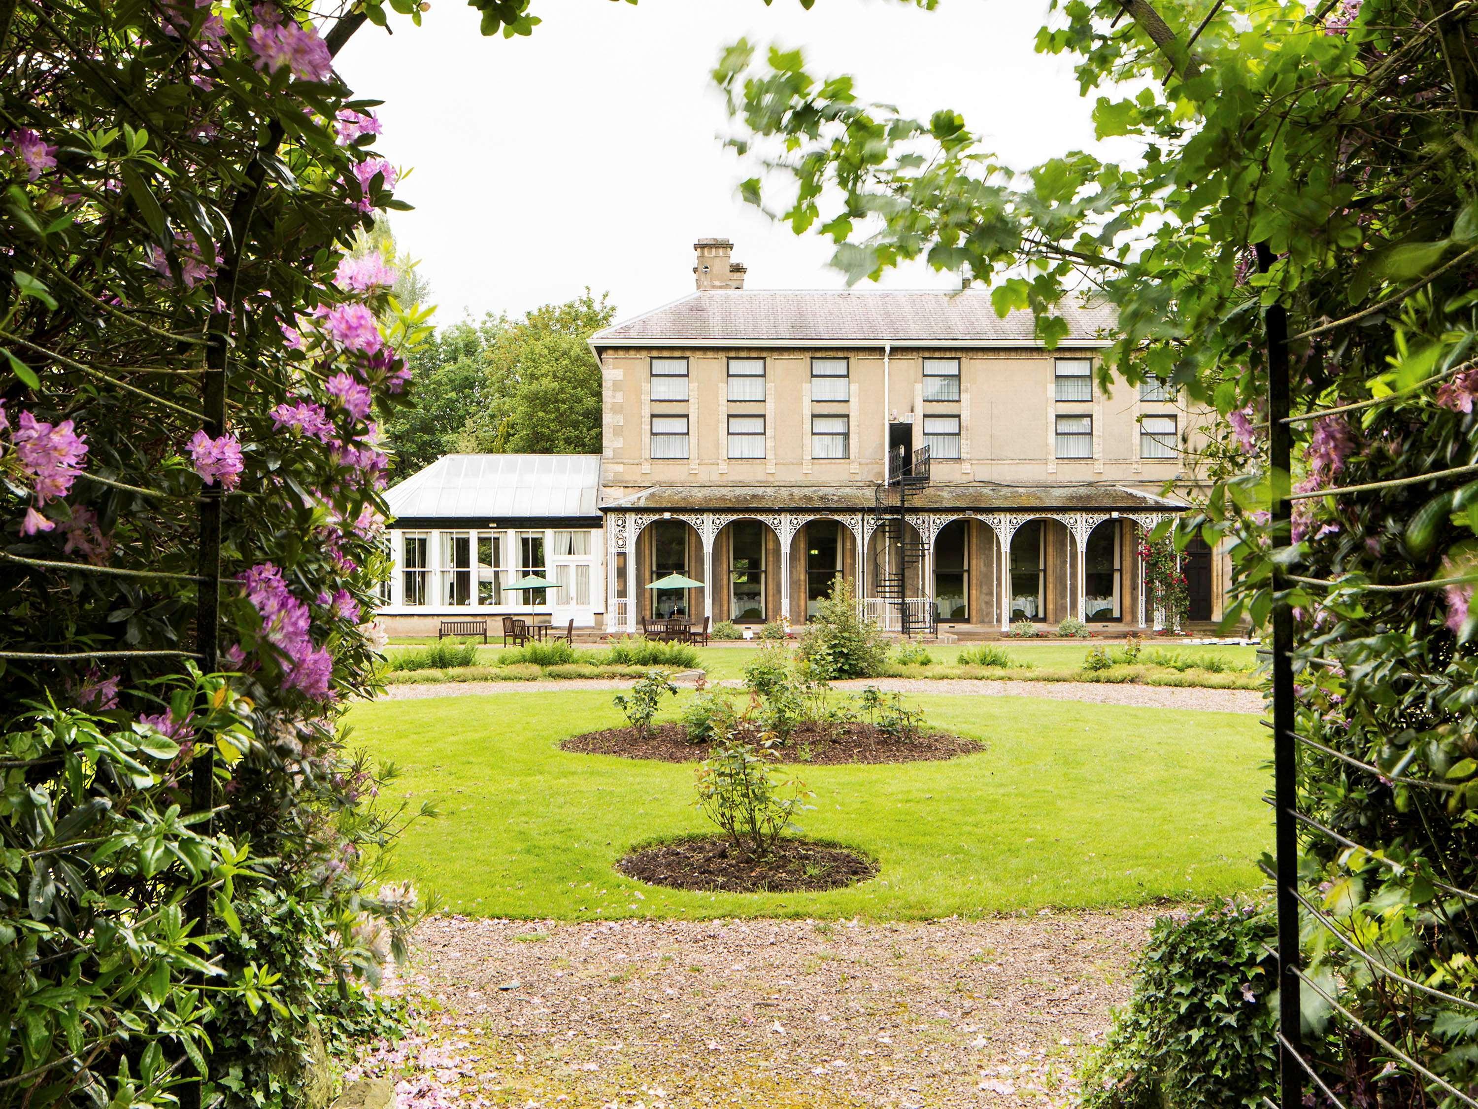
[[[832,247],[743,204],[752,176],[721,146],[729,120],[708,72],[740,35],[804,47],[814,74],[851,72],[863,99],[921,115],[953,108],[1018,169],[1092,145],[1089,102],[1061,56],[1033,50],[1045,0],[542,0],[529,37],[483,38],[461,0],[415,28],[365,27],[337,68],[384,99],[378,149],[412,174],[392,213],[421,260],[437,322],[522,313],[585,285],[618,318],[693,288],[695,240],[735,241],[749,288],[829,288]],[[919,266],[887,285],[952,288]]]

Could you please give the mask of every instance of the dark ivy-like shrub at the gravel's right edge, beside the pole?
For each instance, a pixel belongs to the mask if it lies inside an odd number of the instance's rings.
[[[1256,1106],[1277,1088],[1277,967],[1267,912],[1160,917],[1134,997],[1083,1068],[1083,1109]]]

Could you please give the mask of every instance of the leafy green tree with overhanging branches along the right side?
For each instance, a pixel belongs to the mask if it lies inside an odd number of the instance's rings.
[[[1101,297],[1106,384],[1153,374],[1215,405],[1216,484],[1174,538],[1225,538],[1230,618],[1296,634],[1308,939],[1284,995],[1302,988],[1305,1054],[1344,1103],[1454,1105],[1478,1079],[1475,10],[1061,12],[1038,47],[1077,58],[1132,158],[1012,173],[953,111],[900,117],[738,43],[715,78],[761,164],[743,191],[779,179],[776,214],[853,279],[927,257],[1033,311],[1048,345],[1064,299]]]

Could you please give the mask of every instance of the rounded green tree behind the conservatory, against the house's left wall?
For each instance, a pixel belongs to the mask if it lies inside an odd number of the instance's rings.
[[[590,337],[615,318],[590,290],[544,305],[523,319],[500,318],[485,334],[486,402],[471,408],[458,436],[463,451],[600,452],[600,364]]]

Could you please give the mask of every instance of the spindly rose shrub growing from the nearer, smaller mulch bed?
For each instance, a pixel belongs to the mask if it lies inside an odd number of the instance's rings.
[[[800,831],[794,818],[814,806],[813,797],[797,779],[776,775],[769,747],[749,747],[735,739],[723,745],[698,767],[695,804],[729,837],[743,855],[767,859],[782,832]]]

